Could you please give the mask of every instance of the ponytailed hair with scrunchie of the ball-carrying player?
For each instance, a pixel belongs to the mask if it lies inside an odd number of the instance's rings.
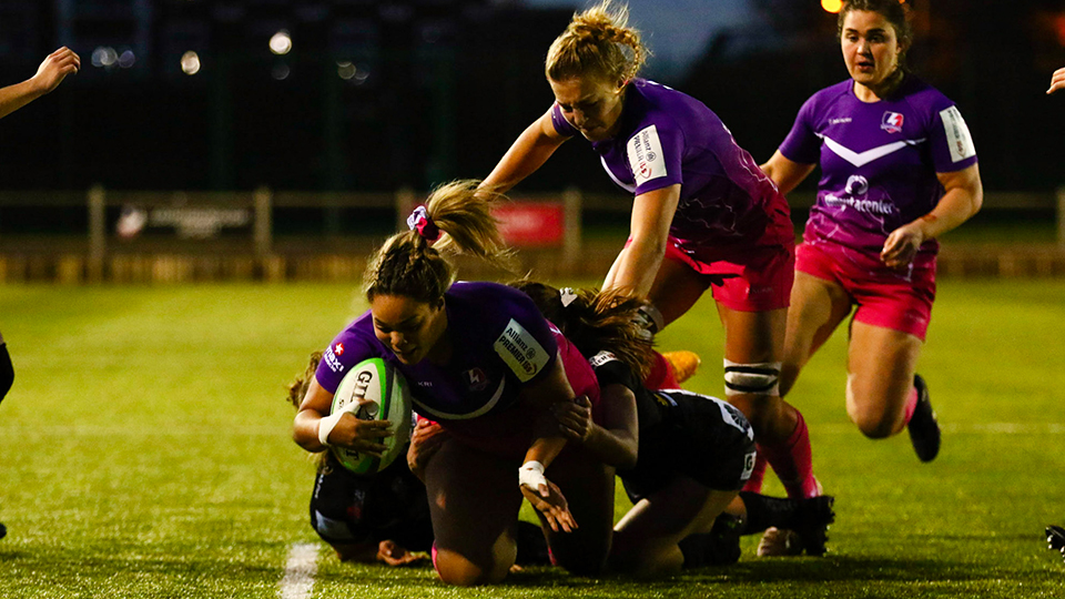
[[[416,230],[389,237],[366,268],[364,291],[373,302],[377,295],[399,295],[437,305],[454,281],[454,268],[445,253],[469,254],[505,268],[511,252],[503,242],[490,205],[503,199],[491,190],[478,189],[479,181],[453,181],[436,187],[425,201],[425,212],[439,229],[435,244]]]

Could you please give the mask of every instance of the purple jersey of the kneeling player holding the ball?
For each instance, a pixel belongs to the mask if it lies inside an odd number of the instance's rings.
[[[547,321],[524,293],[495,283],[459,282],[444,294],[453,347],[446,366],[423,359],[406,365],[374,335],[367,311],[325,351],[315,378],[336,393],[344,375],[372,357],[398,367],[410,385],[414,409],[434,420],[463,420],[511,407],[521,388],[550,369],[558,344]]]

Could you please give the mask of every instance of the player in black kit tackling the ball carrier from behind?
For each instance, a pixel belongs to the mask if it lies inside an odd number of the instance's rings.
[[[739,558],[739,535],[790,526],[813,540],[833,519],[832,498],[777,499],[739,494],[754,461],[753,434],[743,415],[720,399],[642,385],[651,355],[633,315],[642,301],[623,293],[514,284],[569,338],[599,379],[604,408],[635,403],[638,432],[610,430],[590,406],[556,404],[567,435],[586,444],[618,475],[635,507],[615,526],[611,567],[630,573],[667,573]],[[621,465],[605,438],[638,439],[638,460]],[[722,516],[722,512],[726,512]],[[714,524],[717,520],[717,524]],[[787,524],[784,524],[787,522]],[[809,548],[823,552],[823,545]]]

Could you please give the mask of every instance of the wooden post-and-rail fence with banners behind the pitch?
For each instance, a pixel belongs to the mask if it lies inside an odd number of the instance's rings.
[[[373,247],[405,229],[407,214],[422,200],[408,189],[159,192],[93,186],[81,193],[0,192],[0,281],[357,278]],[[814,196],[798,193],[789,201],[802,210]],[[601,276],[619,248],[618,240],[588,238],[586,229],[604,215],[618,222],[631,200],[571,189],[519,195],[507,205],[517,210],[498,214],[505,233],[508,223],[524,227],[509,233],[526,266]],[[1053,211],[1056,244],[994,251],[951,247],[941,254],[941,270],[1065,274],[1065,187],[1056,193],[987,193],[984,211]]]

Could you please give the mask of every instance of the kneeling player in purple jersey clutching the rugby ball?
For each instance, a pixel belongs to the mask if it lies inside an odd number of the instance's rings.
[[[475,190],[476,182],[437,189],[408,220],[412,231],[376,253],[365,282],[371,311],[324,353],[293,436],[310,451],[331,444],[383,450],[378,439],[389,423],[326,418],[344,374],[383,358],[407,379],[415,410],[448,433],[424,470],[440,578],[503,580],[515,560],[523,496],[537,508],[557,562],[595,573],[612,534],[613,469],[567,446],[550,406],[577,395],[597,405],[598,385],[526,295],[490,283],[452,284],[439,250],[505,253],[488,201]],[[567,372],[570,363],[584,372]]]

